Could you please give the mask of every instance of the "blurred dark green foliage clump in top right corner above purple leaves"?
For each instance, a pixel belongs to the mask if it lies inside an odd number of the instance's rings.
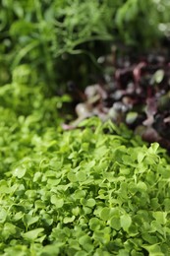
[[[159,46],[160,38],[168,35],[169,1],[128,0],[115,15],[119,39],[142,51]]]

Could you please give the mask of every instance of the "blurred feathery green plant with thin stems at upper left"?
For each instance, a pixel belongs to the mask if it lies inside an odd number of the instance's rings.
[[[8,70],[10,62],[10,69],[27,62],[49,86],[58,80],[60,64],[69,61],[66,54],[81,54],[85,50],[76,47],[85,41],[111,37],[100,22],[105,7],[97,2],[3,1],[2,7],[2,64]]]

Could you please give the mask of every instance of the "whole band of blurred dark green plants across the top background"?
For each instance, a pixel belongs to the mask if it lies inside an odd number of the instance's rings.
[[[112,44],[136,50],[159,46],[169,35],[168,0],[2,0],[0,85],[27,64],[34,85],[51,94],[74,80],[85,87],[101,73],[96,59]]]

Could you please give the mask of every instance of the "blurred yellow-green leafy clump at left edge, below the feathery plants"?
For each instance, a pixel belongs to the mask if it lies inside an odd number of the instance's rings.
[[[33,86],[36,79],[29,65],[16,67],[12,73],[12,82],[0,87],[0,123],[13,126],[22,118],[32,122],[35,133],[50,126],[63,123],[63,103],[69,102],[69,96],[46,97],[43,84]],[[14,117],[14,118],[13,118]],[[3,133],[2,133],[3,134]]]

